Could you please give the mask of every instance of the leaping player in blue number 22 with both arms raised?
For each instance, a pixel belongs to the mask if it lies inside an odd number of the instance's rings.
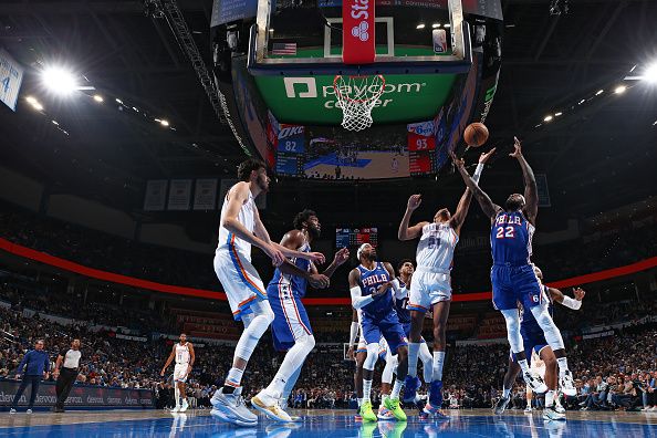
[[[534,393],[548,390],[543,379],[530,371],[522,335],[518,303],[530,310],[539,326],[543,330],[548,344],[554,351],[559,364],[560,379],[564,390],[574,390],[573,376],[567,366],[565,348],[561,332],[554,325],[545,306],[540,305],[543,290],[530,261],[532,255],[532,237],[539,211],[536,180],[532,168],[522,155],[522,146],[514,138],[514,150],[510,157],[518,159],[524,179],[524,196],[510,195],[504,208],[493,204],[489,196],[479,188],[453,153],[451,157],[466,185],[472,190],[484,215],[491,221],[490,246],[493,258],[491,282],[493,288],[493,305],[502,312],[507,323],[507,336],[512,353],[522,369],[522,377]]]

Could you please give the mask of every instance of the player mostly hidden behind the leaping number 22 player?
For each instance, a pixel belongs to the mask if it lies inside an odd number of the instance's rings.
[[[534,272],[539,280],[543,282],[543,272],[536,267],[534,267]],[[575,295],[574,299],[570,298],[569,295],[564,294],[559,289],[549,288],[546,285],[542,285],[543,289],[543,300],[541,302],[542,306],[548,307],[548,312],[550,315],[553,314],[553,303],[557,302],[569,309],[580,310],[582,306],[582,300],[586,292],[582,289],[576,288],[573,289],[573,294]],[[543,334],[543,330],[536,322],[533,313],[525,310],[523,306],[519,306],[520,311],[520,333],[522,334],[522,342],[524,344],[524,352],[528,359],[531,361],[532,351],[539,355],[539,358],[545,363],[545,385],[548,385],[548,392],[545,393],[545,409],[543,411],[543,418],[545,419],[565,419],[565,409],[559,405],[559,400],[554,397],[556,393],[556,383],[557,383],[557,365],[556,365],[556,356],[552,351],[552,347],[548,345],[548,341],[545,341],[545,335]],[[511,397],[511,388],[513,383],[515,382],[515,377],[520,373],[520,365],[518,365],[518,361],[515,359],[513,354],[509,355],[509,368],[507,369],[507,374],[504,375],[504,388],[502,393],[502,397],[496,404],[494,413],[500,415],[507,408]],[[563,387],[563,385],[561,385]],[[565,395],[574,396],[572,392],[564,390]]]

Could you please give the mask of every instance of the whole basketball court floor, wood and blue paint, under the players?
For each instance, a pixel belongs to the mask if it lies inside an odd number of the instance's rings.
[[[303,423],[282,425],[261,418],[257,428],[221,424],[207,410],[169,414],[161,410],[24,413],[0,417],[2,437],[212,437],[212,438],[403,438],[403,437],[657,437],[657,413],[569,413],[567,421],[546,421],[540,413],[488,409],[450,411],[448,420],[407,423],[354,421],[346,410],[298,411]]]

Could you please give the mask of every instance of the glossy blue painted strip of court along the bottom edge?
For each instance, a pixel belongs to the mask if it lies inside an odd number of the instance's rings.
[[[24,414],[3,421],[0,437],[212,437],[212,438],[448,438],[448,437],[655,437],[655,425],[646,425],[646,417],[637,413],[637,423],[567,420],[545,421],[536,413],[532,416],[453,416],[448,420],[419,420],[409,416],[408,423],[354,421],[344,415],[304,417],[295,425],[282,425],[260,418],[254,428],[237,428],[221,424],[206,413],[178,414],[170,418],[88,423],[56,426],[29,426]],[[644,423],[644,424],[639,424]]]

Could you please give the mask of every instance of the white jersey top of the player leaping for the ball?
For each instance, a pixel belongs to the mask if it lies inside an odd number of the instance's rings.
[[[430,272],[449,273],[453,260],[453,249],[459,237],[449,223],[427,223],[417,243],[415,260],[417,269]]]

